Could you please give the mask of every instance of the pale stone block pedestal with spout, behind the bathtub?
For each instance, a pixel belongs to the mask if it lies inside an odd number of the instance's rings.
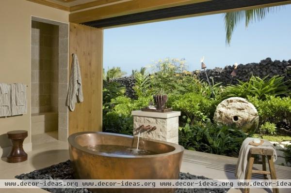
[[[137,136],[136,128],[141,125],[157,127],[156,130],[150,132],[142,132],[141,137],[156,139],[178,144],[178,128],[180,111],[172,111],[167,113],[132,111],[133,116],[133,135]]]

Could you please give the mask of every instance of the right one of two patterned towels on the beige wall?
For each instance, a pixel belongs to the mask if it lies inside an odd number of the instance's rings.
[[[22,87],[22,84],[20,87]],[[18,102],[17,102],[17,98],[19,100]],[[19,89],[19,92],[18,92],[17,84],[12,84],[11,85],[11,115],[12,116],[22,115],[26,113],[27,113],[26,88]]]

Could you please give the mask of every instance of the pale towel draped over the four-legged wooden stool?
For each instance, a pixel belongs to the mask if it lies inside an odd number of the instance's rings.
[[[237,179],[244,179],[245,177],[245,170],[247,167],[247,159],[248,159],[248,154],[250,148],[268,148],[268,149],[273,149],[274,151],[274,162],[277,160],[277,152],[276,148],[273,144],[271,144],[268,140],[266,139],[261,139],[264,141],[262,145],[259,145],[258,147],[249,145],[250,142],[252,142],[255,138],[253,137],[248,137],[242,142],[242,147],[240,149],[240,155],[238,158],[238,162],[236,165],[236,171],[235,171],[235,177]]]

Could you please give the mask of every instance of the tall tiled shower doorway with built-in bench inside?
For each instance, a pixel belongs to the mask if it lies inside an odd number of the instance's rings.
[[[32,143],[68,137],[68,24],[32,16]]]

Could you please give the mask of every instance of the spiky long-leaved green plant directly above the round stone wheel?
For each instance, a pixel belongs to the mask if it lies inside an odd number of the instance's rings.
[[[229,97],[242,97],[255,96],[258,99],[266,99],[267,96],[286,95],[289,93],[286,81],[284,82],[284,76],[278,75],[268,79],[269,76],[259,78],[258,76],[252,76],[248,82],[242,82],[239,80],[237,85],[229,85],[223,92],[224,98]]]

